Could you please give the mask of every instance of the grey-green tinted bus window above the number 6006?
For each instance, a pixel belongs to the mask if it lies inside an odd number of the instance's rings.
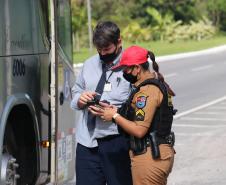
[[[46,53],[40,31],[36,0],[1,1],[4,55]]]

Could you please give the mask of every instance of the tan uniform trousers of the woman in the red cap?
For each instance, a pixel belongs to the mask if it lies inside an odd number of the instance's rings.
[[[160,158],[153,159],[151,148],[141,155],[130,151],[133,185],[166,185],[174,162],[174,149],[166,144],[160,147]]]

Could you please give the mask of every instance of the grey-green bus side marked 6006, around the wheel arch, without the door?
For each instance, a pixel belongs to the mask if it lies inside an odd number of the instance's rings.
[[[27,94],[35,106],[38,141],[49,139],[49,51],[41,32],[38,1],[0,1],[0,114],[7,97]],[[49,156],[48,148],[40,150],[37,173],[43,182]]]

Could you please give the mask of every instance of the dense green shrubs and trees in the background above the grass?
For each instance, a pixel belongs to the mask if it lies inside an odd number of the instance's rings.
[[[201,40],[226,31],[226,0],[90,0],[92,26],[115,21],[129,42]],[[75,46],[87,44],[86,0],[72,0]]]

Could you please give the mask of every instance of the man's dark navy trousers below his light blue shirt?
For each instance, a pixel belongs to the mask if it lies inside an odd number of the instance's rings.
[[[76,149],[76,185],[132,185],[128,141],[120,135],[98,139],[98,147]]]

